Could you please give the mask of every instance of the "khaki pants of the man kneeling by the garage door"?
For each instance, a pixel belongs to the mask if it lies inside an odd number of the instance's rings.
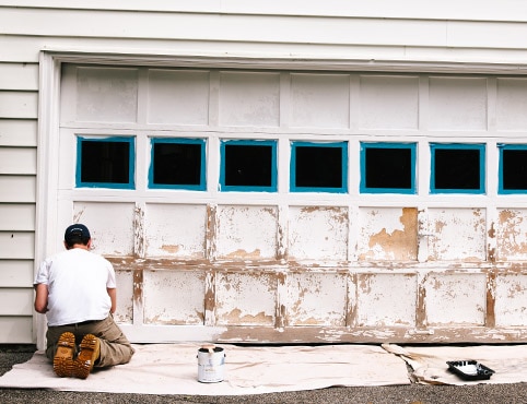
[[[101,356],[95,367],[104,368],[114,365],[127,364],[130,361],[134,350],[120,328],[115,323],[114,318],[108,316],[105,320],[79,324],[66,324],[49,326],[46,333],[47,348],[46,356],[54,359],[57,352],[57,343],[65,332],[75,335],[75,344],[82,341],[86,334],[93,334],[101,341]]]

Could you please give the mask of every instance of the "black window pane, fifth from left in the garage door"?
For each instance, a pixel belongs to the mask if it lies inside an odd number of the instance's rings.
[[[411,148],[366,147],[366,188],[411,189]]]

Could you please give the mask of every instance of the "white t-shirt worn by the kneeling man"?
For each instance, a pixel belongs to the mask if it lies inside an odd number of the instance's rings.
[[[48,286],[48,325],[107,318],[112,300],[106,288],[116,287],[112,263],[81,248],[46,259],[35,276],[36,284]]]

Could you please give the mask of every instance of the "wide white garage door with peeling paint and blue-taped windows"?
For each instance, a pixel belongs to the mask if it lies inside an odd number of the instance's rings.
[[[527,336],[526,79],[65,66],[61,87],[50,210],[113,262],[130,340]]]

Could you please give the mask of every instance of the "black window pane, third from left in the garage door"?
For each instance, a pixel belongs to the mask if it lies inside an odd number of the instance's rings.
[[[225,145],[225,186],[271,187],[272,146]]]

